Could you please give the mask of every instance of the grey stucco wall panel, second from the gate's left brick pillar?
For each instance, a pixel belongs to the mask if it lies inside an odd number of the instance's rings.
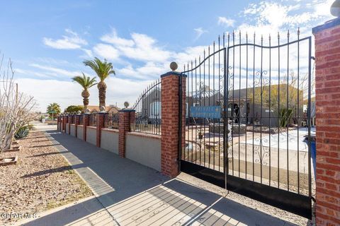
[[[118,129],[102,129],[101,130],[101,148],[116,153],[118,155]]]

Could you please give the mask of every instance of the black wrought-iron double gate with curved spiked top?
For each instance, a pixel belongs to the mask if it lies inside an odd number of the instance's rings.
[[[311,218],[311,37],[251,36],[223,35],[184,66],[181,171]]]

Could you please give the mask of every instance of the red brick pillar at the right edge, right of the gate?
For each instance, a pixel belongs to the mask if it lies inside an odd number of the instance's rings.
[[[317,225],[340,225],[340,18],[313,28]]]

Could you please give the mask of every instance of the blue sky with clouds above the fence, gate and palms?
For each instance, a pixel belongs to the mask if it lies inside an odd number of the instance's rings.
[[[256,30],[268,35],[296,30],[311,35],[329,20],[333,1],[1,1],[0,51],[11,57],[19,90],[33,95],[44,111],[50,102],[62,108],[82,105],[81,88],[70,78],[82,61],[99,57],[113,62],[116,76],[107,81],[107,103],[123,107],[145,87],[202,54],[217,35]],[[98,105],[91,88],[90,105]]]

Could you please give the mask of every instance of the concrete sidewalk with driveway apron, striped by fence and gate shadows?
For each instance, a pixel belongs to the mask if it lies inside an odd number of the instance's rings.
[[[25,225],[290,225],[73,136],[46,132],[95,197]]]

